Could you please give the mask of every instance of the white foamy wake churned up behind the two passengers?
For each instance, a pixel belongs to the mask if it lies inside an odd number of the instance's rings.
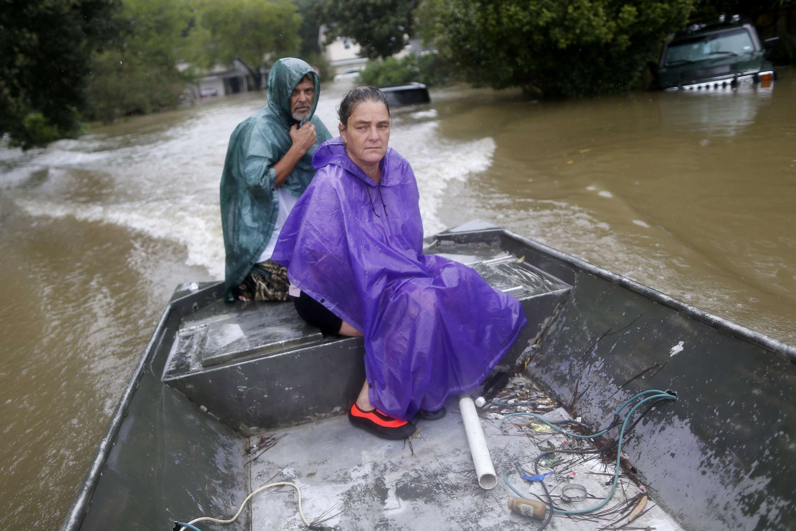
[[[338,132],[335,106],[340,97],[327,94],[318,102],[317,114],[327,127],[332,126],[332,135]],[[10,171],[0,178],[0,187],[18,185],[35,172],[53,168],[101,172],[109,179],[107,190],[92,203],[30,193],[19,194],[15,201],[33,216],[110,223],[184,245],[187,265],[205,267],[214,278],[223,278],[217,187],[229,133],[258,105],[252,100],[240,108],[207,107],[165,130],[89,135],[27,153],[2,150],[0,163]],[[437,212],[447,183],[488,169],[496,147],[489,137],[469,142],[444,138],[435,115],[433,109],[410,115],[432,119],[421,123],[396,118],[390,139],[390,146],[415,171],[426,235],[446,226]]]

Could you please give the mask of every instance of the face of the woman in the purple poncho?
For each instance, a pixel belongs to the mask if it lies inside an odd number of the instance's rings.
[[[353,162],[373,164],[387,154],[390,141],[390,115],[384,103],[363,101],[349,116],[348,126],[339,126],[340,136],[345,142]]]

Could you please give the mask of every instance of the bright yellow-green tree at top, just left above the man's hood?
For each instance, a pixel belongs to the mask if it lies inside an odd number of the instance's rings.
[[[263,86],[260,68],[295,55],[301,44],[302,19],[288,0],[205,0],[197,15],[194,61],[205,68],[238,61],[252,75],[257,90]]]

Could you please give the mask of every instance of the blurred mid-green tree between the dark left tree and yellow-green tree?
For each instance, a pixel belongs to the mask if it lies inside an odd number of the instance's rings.
[[[105,123],[176,106],[189,80],[177,68],[192,18],[184,0],[124,0],[119,16],[125,29],[96,54],[88,88],[88,115]]]

